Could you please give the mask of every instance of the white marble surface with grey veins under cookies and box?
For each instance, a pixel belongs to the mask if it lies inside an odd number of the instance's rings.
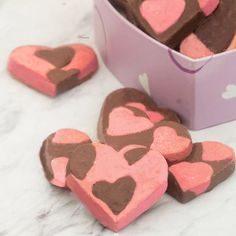
[[[51,187],[38,158],[41,141],[62,127],[96,137],[103,99],[121,85],[100,61],[93,80],[51,99],[11,79],[10,51],[24,44],[94,45],[92,0],[0,0],[0,236],[108,236],[68,191]],[[220,109],[220,107],[219,107]],[[236,122],[194,132],[195,141],[236,148]],[[187,205],[169,196],[121,236],[235,236],[236,174]],[[118,234],[117,234],[118,235]]]

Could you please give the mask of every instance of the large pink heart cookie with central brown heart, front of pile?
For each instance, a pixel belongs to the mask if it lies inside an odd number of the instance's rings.
[[[148,210],[167,188],[167,163],[152,150],[130,165],[108,145],[85,144],[74,151],[68,167],[68,187],[113,231]]]

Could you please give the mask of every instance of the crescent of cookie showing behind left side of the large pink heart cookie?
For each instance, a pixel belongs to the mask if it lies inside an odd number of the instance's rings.
[[[66,187],[66,168],[72,152],[90,142],[86,134],[74,129],[61,129],[49,135],[40,150],[40,160],[48,181],[57,187]]]

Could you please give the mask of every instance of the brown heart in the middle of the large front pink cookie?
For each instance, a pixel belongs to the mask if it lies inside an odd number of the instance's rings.
[[[92,191],[95,197],[105,202],[111,211],[118,215],[131,201],[135,187],[136,183],[133,178],[126,176],[114,183],[99,181],[93,185]]]

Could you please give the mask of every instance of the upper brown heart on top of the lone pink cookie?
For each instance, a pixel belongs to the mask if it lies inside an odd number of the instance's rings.
[[[35,55],[54,65],[62,68],[68,65],[75,56],[75,50],[71,47],[59,47],[55,49],[42,49],[35,52]]]

